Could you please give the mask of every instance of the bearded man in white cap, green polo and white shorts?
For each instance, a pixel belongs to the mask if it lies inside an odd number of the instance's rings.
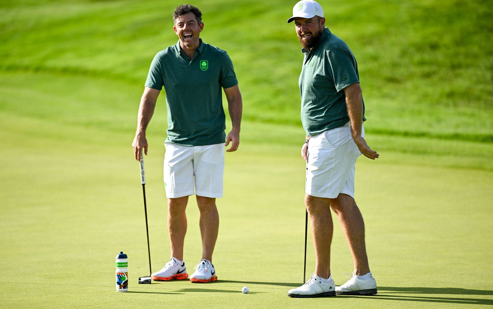
[[[354,163],[359,155],[375,160],[378,153],[364,139],[364,104],[356,59],[348,45],[325,28],[320,4],[302,0],[293,8],[296,34],[305,54],[299,79],[301,120],[306,140],[301,156],[307,162],[305,204],[315,246],[315,273],[291,297],[377,293],[365,248],[363,217],[354,202]],[[337,215],[354,263],[354,274],[336,287],[330,275],[332,217]]]

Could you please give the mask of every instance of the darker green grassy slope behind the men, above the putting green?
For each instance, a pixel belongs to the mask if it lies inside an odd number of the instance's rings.
[[[299,124],[296,76],[302,54],[292,25],[285,24],[290,5],[198,2],[204,40],[234,60],[249,107],[245,118]],[[176,41],[169,13],[175,6],[173,1],[40,1],[1,8],[1,68],[141,85],[156,50]],[[357,57],[372,119],[369,132],[493,140],[488,1],[328,1],[324,6],[327,26]]]

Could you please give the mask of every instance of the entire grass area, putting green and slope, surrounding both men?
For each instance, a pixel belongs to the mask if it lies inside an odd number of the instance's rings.
[[[147,253],[130,143],[149,63],[176,43],[177,4],[0,2],[0,307],[493,304],[491,280],[478,286],[470,275],[493,275],[488,1],[322,3],[328,27],[358,60],[368,141],[382,154],[378,162],[360,158],[356,175],[380,297],[303,301],[285,296],[301,283],[303,263],[302,55],[285,24],[292,3],[194,2],[204,13],[204,41],[233,59],[245,104],[242,151],[227,156],[219,202],[220,281],[138,286]],[[162,96],[146,158],[153,271],[169,256],[165,112]],[[191,273],[200,258],[193,197],[187,215]],[[352,263],[338,227],[332,247],[340,284]],[[113,291],[112,258],[121,249],[132,266],[133,293],[125,295]],[[244,285],[250,294],[239,293]]]

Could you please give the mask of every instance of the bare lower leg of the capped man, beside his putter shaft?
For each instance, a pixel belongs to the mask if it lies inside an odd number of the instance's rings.
[[[328,279],[330,276],[330,244],[332,243],[332,215],[329,199],[307,194],[305,205],[310,216],[313,243],[315,247],[315,275]]]

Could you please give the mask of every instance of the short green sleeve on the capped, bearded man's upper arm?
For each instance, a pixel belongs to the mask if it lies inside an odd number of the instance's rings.
[[[359,83],[356,59],[350,51],[338,47],[332,48],[327,52],[327,59],[329,63],[327,73],[334,80],[338,92],[349,85]]]

